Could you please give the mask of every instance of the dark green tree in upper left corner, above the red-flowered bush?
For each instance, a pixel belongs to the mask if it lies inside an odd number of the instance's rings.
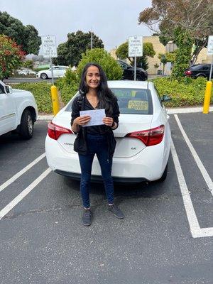
[[[17,18],[13,18],[9,13],[0,11],[0,34],[8,35],[21,45],[26,54],[38,54],[41,39],[38,31],[32,25],[23,26]]]

